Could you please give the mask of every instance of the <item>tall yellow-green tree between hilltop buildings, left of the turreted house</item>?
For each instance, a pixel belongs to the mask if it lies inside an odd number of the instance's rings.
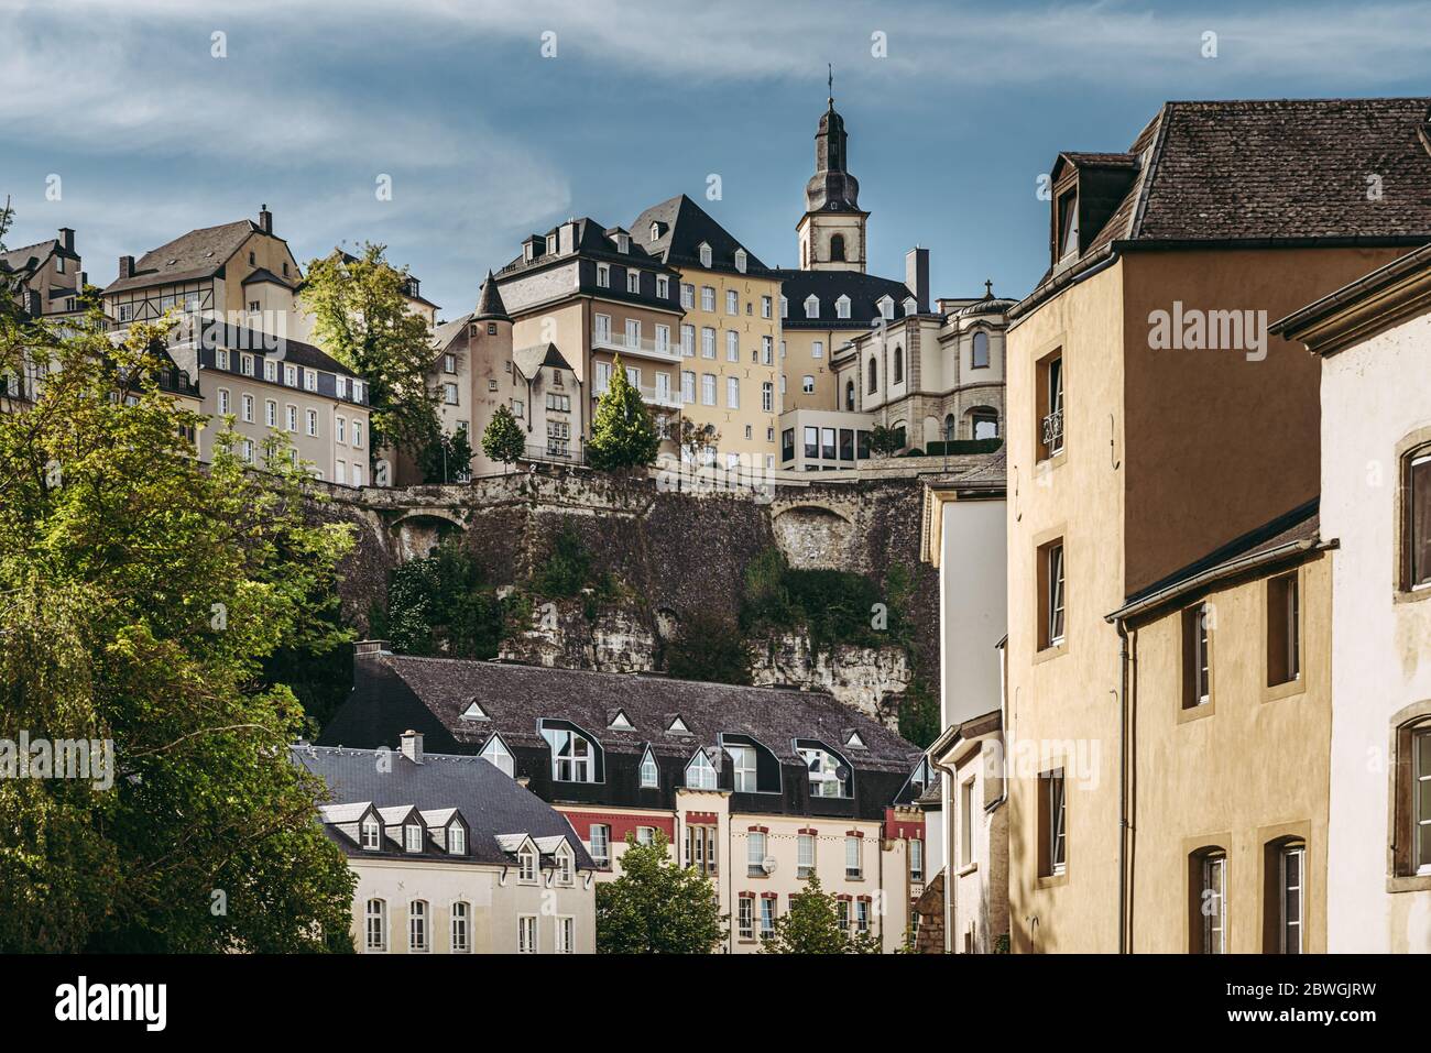
[[[365,243],[356,258],[335,249],[308,263],[302,300],[319,345],[368,382],[369,456],[389,444],[421,451],[439,432],[426,382],[432,336],[408,310],[408,280],[382,245]]]

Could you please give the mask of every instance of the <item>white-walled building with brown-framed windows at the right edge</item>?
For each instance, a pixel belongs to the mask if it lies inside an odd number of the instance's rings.
[[[1331,561],[1327,947],[1431,951],[1431,249],[1274,329],[1321,362]]]

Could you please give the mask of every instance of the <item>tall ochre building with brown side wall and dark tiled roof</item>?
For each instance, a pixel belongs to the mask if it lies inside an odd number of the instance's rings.
[[[1266,319],[1431,235],[1427,112],[1424,99],[1168,103],[1129,152],[1063,153],[1052,169],[1050,268],[1007,333],[1016,951],[1182,939],[1181,910],[1156,933],[1133,913],[1138,867],[1169,848],[1152,853],[1146,823],[1136,854],[1125,837],[1146,740],[1108,615],[1317,496],[1317,362]],[[1402,173],[1387,197],[1334,189],[1387,165]],[[1268,763],[1254,741],[1229,737],[1236,753],[1219,760],[1248,793]]]

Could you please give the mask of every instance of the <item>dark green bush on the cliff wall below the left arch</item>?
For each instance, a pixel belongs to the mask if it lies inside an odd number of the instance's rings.
[[[477,558],[451,537],[392,572],[378,630],[402,654],[487,660],[501,647],[505,609]]]

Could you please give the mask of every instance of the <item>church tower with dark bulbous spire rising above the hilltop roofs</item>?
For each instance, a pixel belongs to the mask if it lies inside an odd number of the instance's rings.
[[[834,74],[829,109],[814,133],[814,175],[806,183],[806,213],[796,225],[801,270],[864,272],[864,225],[860,182],[850,175],[844,117],[834,112]]]

